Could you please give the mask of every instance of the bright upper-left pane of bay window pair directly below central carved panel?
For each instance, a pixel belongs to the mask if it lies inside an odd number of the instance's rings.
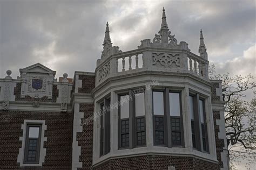
[[[154,115],[164,115],[164,93],[153,91]]]

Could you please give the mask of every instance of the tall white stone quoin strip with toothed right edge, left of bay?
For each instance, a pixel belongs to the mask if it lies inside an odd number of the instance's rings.
[[[74,107],[72,169],[77,169],[83,167],[83,162],[79,162],[79,157],[81,155],[81,146],[78,146],[77,132],[83,131],[81,119],[84,118],[84,112],[79,112],[79,103],[75,103]]]

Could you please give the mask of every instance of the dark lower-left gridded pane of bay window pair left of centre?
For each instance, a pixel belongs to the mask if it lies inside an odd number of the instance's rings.
[[[121,121],[121,147],[129,147],[129,119]]]

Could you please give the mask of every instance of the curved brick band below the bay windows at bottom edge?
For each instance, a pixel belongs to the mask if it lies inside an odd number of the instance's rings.
[[[212,169],[217,163],[207,162],[192,157],[174,157],[168,155],[141,155],[136,157],[110,159],[93,169],[168,169],[174,166],[179,169]]]

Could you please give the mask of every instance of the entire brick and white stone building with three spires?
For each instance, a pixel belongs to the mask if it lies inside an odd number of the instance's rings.
[[[94,73],[40,63],[0,79],[0,169],[228,169],[220,80],[171,35],[122,52],[106,25]]]

